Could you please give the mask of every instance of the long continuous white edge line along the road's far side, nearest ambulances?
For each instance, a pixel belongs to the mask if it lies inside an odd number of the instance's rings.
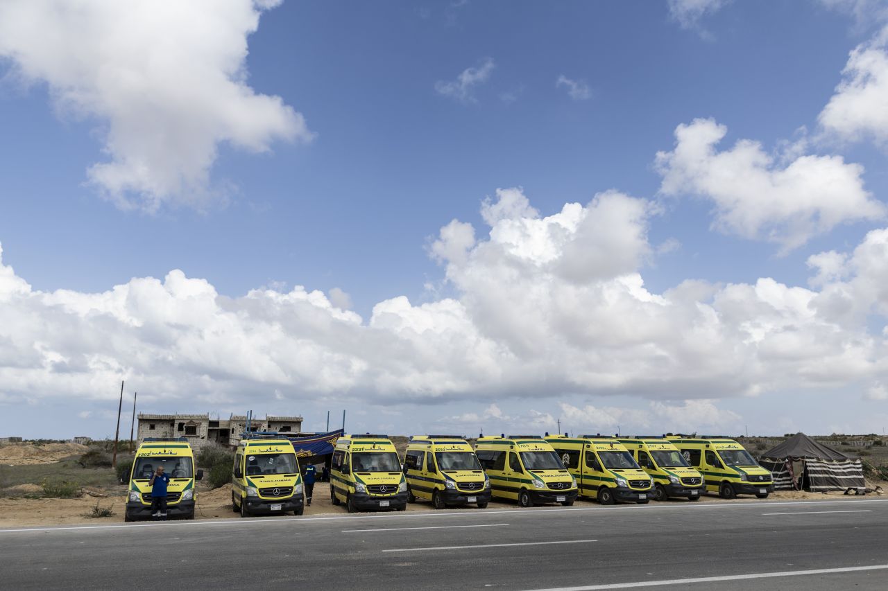
[[[58,532],[66,530],[111,530],[129,527],[173,527],[177,525],[188,527],[199,527],[201,525],[224,525],[224,524],[309,524],[312,522],[337,521],[339,519],[411,519],[411,518],[446,518],[458,516],[491,516],[491,515],[509,515],[509,516],[544,516],[552,513],[562,513],[566,511],[670,511],[670,510],[693,510],[701,511],[706,509],[741,509],[741,508],[761,508],[761,507],[786,507],[790,505],[835,505],[846,503],[886,503],[888,499],[861,499],[861,500],[761,500],[746,502],[721,502],[714,500],[712,503],[675,503],[662,505],[615,505],[610,507],[545,507],[545,508],[512,508],[512,509],[477,509],[472,511],[416,511],[408,513],[380,513],[370,515],[342,515],[342,516],[317,516],[317,517],[256,517],[250,519],[200,519],[196,521],[166,521],[161,523],[147,522],[136,524],[113,524],[113,525],[63,525],[50,527],[21,527],[14,529],[0,530],[0,533],[28,533],[28,532]]]

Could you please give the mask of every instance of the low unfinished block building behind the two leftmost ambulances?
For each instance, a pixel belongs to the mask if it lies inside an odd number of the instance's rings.
[[[247,417],[232,414],[227,419],[210,418],[209,414],[143,414],[139,413],[139,443],[145,437],[187,437],[192,447],[202,445],[237,445],[247,429]],[[301,416],[253,417],[251,431],[302,430]]]

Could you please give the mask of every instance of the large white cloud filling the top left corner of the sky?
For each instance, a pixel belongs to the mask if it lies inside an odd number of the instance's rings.
[[[0,4],[0,57],[45,83],[63,116],[97,124],[91,183],[123,208],[204,209],[224,198],[218,146],[262,153],[310,140],[302,114],[250,88],[247,37],[272,0]]]

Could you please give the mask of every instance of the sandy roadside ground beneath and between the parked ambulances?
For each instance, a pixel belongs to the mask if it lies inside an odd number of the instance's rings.
[[[83,496],[80,499],[0,499],[0,529],[22,526],[40,525],[67,525],[67,524],[114,524],[123,523],[123,510],[126,497],[123,494],[114,494],[107,499],[97,499]],[[857,500],[879,498],[875,494],[866,496],[844,496],[842,493],[805,493],[786,492],[773,493],[769,500]],[[883,497],[884,498],[884,497]],[[758,501],[755,497],[736,500],[721,500],[715,495],[706,495],[702,503],[742,503]],[[688,500],[670,500],[670,503],[689,503]],[[99,504],[102,508],[111,508],[115,516],[91,518],[85,514],[91,508]],[[575,506],[595,506],[597,503],[591,500],[577,500]],[[514,509],[515,503],[491,502],[489,508]],[[432,504],[417,501],[407,506],[408,511],[433,511]],[[484,509],[472,509],[484,510]],[[306,516],[345,514],[345,507],[334,507],[329,500],[329,485],[318,483],[314,486],[314,496],[311,507],[305,508]],[[195,519],[228,519],[237,514],[231,508],[231,486],[225,485],[214,491],[200,491],[197,496],[197,515]],[[296,518],[296,517],[294,517]]]

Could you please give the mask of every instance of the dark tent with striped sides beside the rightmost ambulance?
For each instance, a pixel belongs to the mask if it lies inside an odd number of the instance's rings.
[[[762,453],[758,462],[770,469],[774,490],[803,488],[817,493],[865,488],[860,460],[797,433]]]

